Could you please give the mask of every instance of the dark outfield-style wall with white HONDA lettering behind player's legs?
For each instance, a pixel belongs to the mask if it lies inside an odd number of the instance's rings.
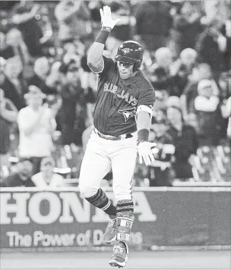
[[[130,248],[230,248],[230,194],[230,187],[134,188]],[[76,187],[2,188],[0,198],[1,252],[112,248],[103,245],[108,216]]]

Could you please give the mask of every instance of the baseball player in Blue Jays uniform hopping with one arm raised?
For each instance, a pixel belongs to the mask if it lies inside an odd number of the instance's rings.
[[[110,266],[124,267],[128,260],[128,241],[132,227],[132,177],[137,153],[139,162],[154,161],[148,142],[155,92],[139,70],[144,50],[135,41],[123,42],[114,60],[103,56],[110,31],[118,19],[111,10],[100,10],[102,29],[87,55],[87,63],[99,82],[94,110],[94,128],[87,143],[80,169],[79,189],[83,197],[110,217],[104,241],[115,243]],[[113,191],[117,206],[100,188],[112,168]]]

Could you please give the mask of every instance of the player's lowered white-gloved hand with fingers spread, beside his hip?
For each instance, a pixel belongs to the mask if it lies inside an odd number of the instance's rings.
[[[150,142],[141,142],[137,146],[137,152],[139,154],[139,164],[144,163],[146,165],[150,165],[152,162],[155,161],[153,153],[152,153],[152,148],[157,146],[155,143],[150,143]]]

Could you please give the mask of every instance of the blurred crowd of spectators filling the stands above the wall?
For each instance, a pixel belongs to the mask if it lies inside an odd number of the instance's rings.
[[[1,1],[0,186],[78,178],[97,87],[87,51],[105,4],[120,19],[105,55],[125,40],[140,42],[141,69],[156,92],[155,162],[137,164],[134,184],[228,181],[230,1]]]

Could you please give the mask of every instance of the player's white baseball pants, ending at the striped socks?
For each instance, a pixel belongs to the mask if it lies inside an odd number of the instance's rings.
[[[112,141],[92,131],[80,169],[79,189],[85,198],[94,196],[112,168],[113,191],[118,200],[132,199],[132,178],[137,158],[137,135]]]

